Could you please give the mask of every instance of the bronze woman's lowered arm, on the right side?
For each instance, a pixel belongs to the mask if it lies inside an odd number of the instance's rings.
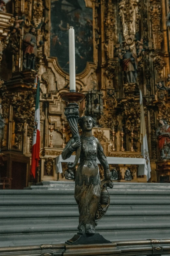
[[[103,166],[105,179],[110,179],[109,165],[108,165],[106,156],[103,152],[103,147],[100,144],[98,139],[96,139],[96,142],[97,142],[97,158],[100,161],[101,165]]]

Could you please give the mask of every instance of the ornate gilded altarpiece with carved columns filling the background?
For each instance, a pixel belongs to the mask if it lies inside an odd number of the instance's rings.
[[[102,103],[96,97],[88,109],[92,109],[96,121],[93,132],[101,140],[106,155],[140,158],[141,89],[151,181],[157,181],[156,161],[160,152],[156,129],[159,119],[169,123],[167,0],[12,0],[11,3],[12,20],[10,26],[9,18],[6,22],[7,35],[2,36],[0,45],[0,98],[5,119],[2,152],[8,159],[12,154],[19,162],[27,163],[25,186],[30,172],[36,75],[40,79],[41,132],[36,181],[73,178],[68,172],[68,175],[56,173],[55,168],[55,158],[71,136],[64,117],[66,103],[60,98],[69,90],[69,26],[74,26],[76,33],[76,90],[87,94],[79,104],[80,116],[87,111],[88,95],[100,93]],[[31,52],[29,40],[34,43]],[[162,92],[164,96],[160,96]],[[9,178],[12,161],[7,167]],[[145,177],[137,176],[136,166],[110,167],[115,181],[146,181]]]

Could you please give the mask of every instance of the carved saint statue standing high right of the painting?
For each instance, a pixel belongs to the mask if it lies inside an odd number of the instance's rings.
[[[137,58],[134,53],[130,51],[129,45],[125,46],[125,53],[123,55],[123,71],[126,73],[128,83],[136,83],[137,79]]]

